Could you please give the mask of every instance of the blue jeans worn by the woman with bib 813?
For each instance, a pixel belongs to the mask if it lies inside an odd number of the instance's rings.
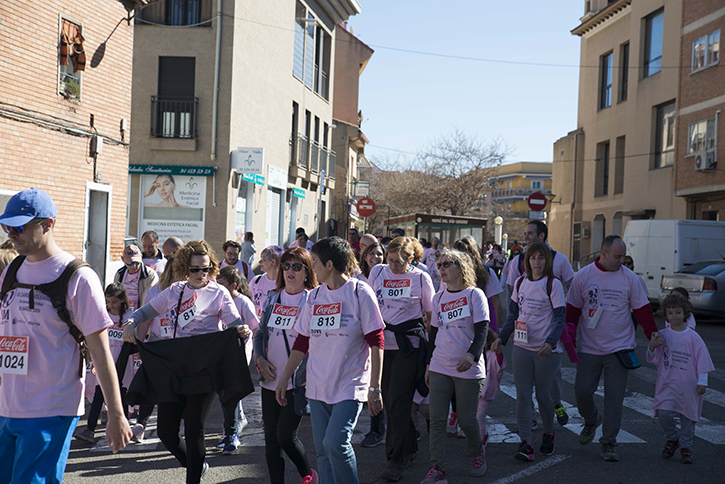
[[[317,451],[321,484],[357,484],[357,459],[350,439],[362,402],[344,400],[334,405],[310,399],[312,437]]]

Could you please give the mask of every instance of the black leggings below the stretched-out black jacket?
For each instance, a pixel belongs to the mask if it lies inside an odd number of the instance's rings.
[[[206,455],[204,417],[211,404],[211,393],[178,395],[179,401],[159,403],[158,434],[161,442],[186,467],[186,483],[198,484]],[[179,438],[181,419],[184,419],[185,442]]]

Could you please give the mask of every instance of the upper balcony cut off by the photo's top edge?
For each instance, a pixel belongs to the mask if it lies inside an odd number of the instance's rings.
[[[136,16],[138,25],[211,27],[212,0],[162,0]]]

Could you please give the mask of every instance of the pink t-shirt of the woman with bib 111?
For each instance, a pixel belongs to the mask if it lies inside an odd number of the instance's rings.
[[[554,327],[554,308],[566,306],[564,287],[559,279],[551,284],[551,299],[546,294],[547,278],[530,281],[524,278],[521,287],[514,284],[511,300],[519,305],[519,317],[512,334],[514,344],[529,351],[539,351]],[[519,290],[520,289],[520,290]],[[558,346],[558,341],[554,347]]]

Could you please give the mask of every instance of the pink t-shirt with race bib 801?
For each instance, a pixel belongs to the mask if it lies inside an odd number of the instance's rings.
[[[423,312],[433,311],[433,282],[430,276],[411,267],[405,274],[393,274],[387,264],[378,264],[370,271],[368,284],[375,291],[383,321],[390,325],[404,323],[423,317]],[[385,334],[385,349],[397,350],[395,333]],[[408,336],[414,348],[420,346],[420,339]]]

